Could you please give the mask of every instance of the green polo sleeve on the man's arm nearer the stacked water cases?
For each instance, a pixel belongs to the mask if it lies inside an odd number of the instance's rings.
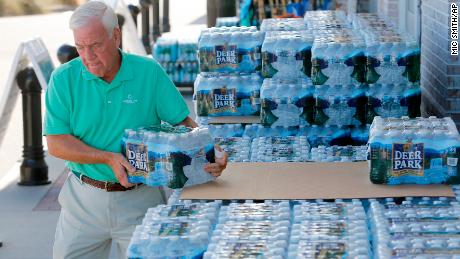
[[[156,110],[162,121],[172,125],[181,123],[190,114],[187,104],[168,74],[157,65],[156,73]]]

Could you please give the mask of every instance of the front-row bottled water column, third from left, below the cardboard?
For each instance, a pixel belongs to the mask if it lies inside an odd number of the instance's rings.
[[[301,202],[293,218],[288,258],[371,258],[359,200]]]

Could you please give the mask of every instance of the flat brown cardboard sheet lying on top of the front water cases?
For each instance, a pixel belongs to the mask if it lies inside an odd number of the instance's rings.
[[[184,188],[181,199],[349,199],[453,197],[448,185],[378,185],[367,162],[229,163],[216,181]]]

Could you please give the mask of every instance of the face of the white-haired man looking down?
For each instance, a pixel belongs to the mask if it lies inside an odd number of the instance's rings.
[[[73,31],[78,54],[86,69],[97,76],[107,77],[114,72],[120,45],[120,30],[115,28],[112,38],[101,21],[93,20]],[[115,71],[116,73],[116,71]]]

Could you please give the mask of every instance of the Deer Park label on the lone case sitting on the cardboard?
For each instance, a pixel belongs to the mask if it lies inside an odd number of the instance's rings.
[[[423,176],[423,143],[394,143],[392,152],[392,176]]]

